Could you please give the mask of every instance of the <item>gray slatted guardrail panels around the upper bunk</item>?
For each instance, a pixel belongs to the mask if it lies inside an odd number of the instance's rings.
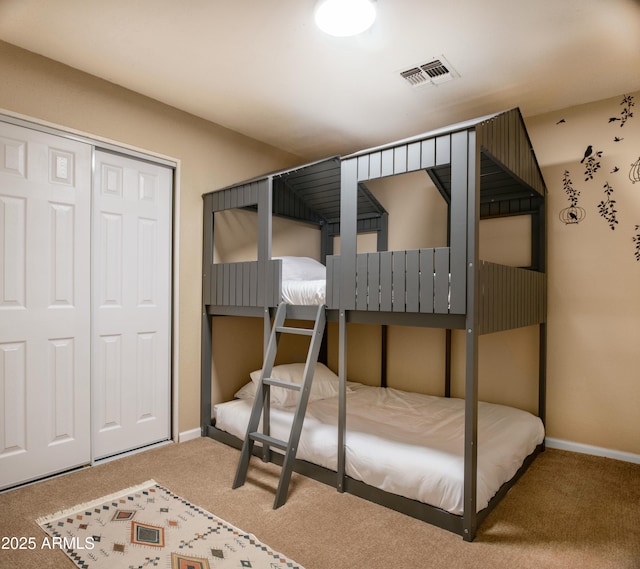
[[[355,310],[451,314],[448,247],[360,253],[356,258]],[[282,260],[210,266],[210,302],[219,307],[275,307],[281,302]],[[327,307],[340,307],[340,257],[327,257]],[[480,261],[479,334],[545,321],[544,273]],[[462,290],[464,293],[464,289]]]

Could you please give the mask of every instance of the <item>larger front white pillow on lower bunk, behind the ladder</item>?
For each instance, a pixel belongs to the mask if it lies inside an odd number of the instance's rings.
[[[260,373],[262,370],[252,371],[249,375],[252,383],[257,387],[260,381]],[[274,366],[271,377],[282,381],[290,381],[291,383],[302,383],[302,374],[304,372],[303,363],[282,364]],[[338,396],[338,376],[333,373],[327,366],[321,363],[316,364],[316,370],[313,374],[313,382],[311,383],[311,392],[309,393],[309,402],[318,401],[319,399],[328,399],[329,397]],[[270,388],[270,401],[273,405],[280,407],[291,407],[298,402],[298,391],[286,389],[284,387]],[[349,389],[347,388],[347,391]]]

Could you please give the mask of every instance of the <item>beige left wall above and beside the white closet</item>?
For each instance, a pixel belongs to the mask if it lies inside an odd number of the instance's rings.
[[[199,427],[201,196],[300,159],[4,42],[0,76],[1,110],[180,161],[179,431]]]

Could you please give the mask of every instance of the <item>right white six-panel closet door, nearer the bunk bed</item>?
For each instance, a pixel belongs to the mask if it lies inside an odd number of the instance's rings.
[[[171,169],[96,152],[94,458],[170,437]]]

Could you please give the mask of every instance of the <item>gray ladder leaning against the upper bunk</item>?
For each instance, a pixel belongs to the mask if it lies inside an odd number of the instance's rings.
[[[278,305],[278,310],[276,311],[271,335],[269,337],[269,343],[265,353],[260,382],[258,383],[258,389],[256,390],[256,396],[251,410],[251,417],[249,418],[247,434],[242,445],[236,477],[233,481],[234,489],[245,483],[247,479],[249,461],[256,441],[261,443],[265,449],[277,448],[284,451],[285,454],[282,463],[282,471],[280,473],[280,480],[278,482],[276,497],[273,503],[274,509],[282,506],[287,499],[287,491],[289,489],[289,482],[291,480],[293,465],[296,459],[298,442],[302,431],[302,423],[307,410],[309,392],[311,391],[311,383],[313,381],[316,362],[318,361],[318,354],[320,352],[320,345],[322,344],[322,337],[324,336],[326,321],[325,306],[321,305],[318,306],[315,318],[310,318],[315,322],[313,328],[292,328],[284,326],[289,306],[290,305],[288,304],[281,303]],[[296,318],[299,317],[296,316]],[[280,334],[302,334],[310,336],[309,351],[307,353],[307,361],[304,367],[301,383],[292,383],[270,377],[276,359]],[[283,441],[269,435],[269,392],[271,386],[293,389],[300,393],[288,441]],[[263,418],[262,433],[258,431],[258,425],[261,417]]]

